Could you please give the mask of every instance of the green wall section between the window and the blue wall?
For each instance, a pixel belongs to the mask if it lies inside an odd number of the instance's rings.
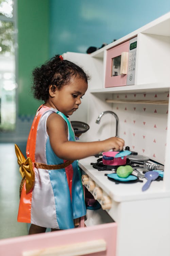
[[[32,70],[49,58],[49,1],[18,0],[18,115],[34,115]]]

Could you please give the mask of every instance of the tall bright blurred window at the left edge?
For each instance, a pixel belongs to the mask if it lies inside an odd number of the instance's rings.
[[[0,0],[0,130],[16,124],[15,1]]]

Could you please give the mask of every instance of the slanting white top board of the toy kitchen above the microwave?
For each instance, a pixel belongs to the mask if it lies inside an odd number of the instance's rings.
[[[132,33],[125,35],[124,37],[116,40],[115,42],[104,46],[103,48],[97,50],[96,52],[91,53],[90,56],[95,58],[103,58],[103,54],[105,50],[112,48],[117,44],[123,43],[124,41],[127,41],[133,37],[136,37],[138,33],[163,35],[163,36],[170,37],[170,12],[153,20],[147,25],[133,31]]]

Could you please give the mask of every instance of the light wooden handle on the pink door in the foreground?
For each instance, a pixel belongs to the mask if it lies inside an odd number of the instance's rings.
[[[22,256],[78,256],[104,251],[106,251],[106,242],[103,239],[98,239],[82,243],[66,244],[57,247],[26,251],[22,253]]]

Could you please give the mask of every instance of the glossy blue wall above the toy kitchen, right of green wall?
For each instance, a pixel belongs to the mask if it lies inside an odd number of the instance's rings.
[[[170,11],[170,0],[50,0],[50,57],[85,53]]]

